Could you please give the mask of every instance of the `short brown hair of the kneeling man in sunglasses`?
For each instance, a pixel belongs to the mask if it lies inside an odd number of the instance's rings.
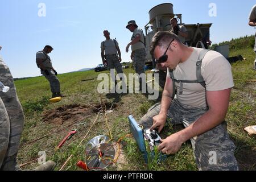
[[[176,40],[179,44],[181,44],[180,39],[177,35],[169,31],[159,31],[157,32],[154,37],[152,38],[150,44],[150,53],[154,56],[155,47],[168,47],[168,44],[172,41],[172,39]]]

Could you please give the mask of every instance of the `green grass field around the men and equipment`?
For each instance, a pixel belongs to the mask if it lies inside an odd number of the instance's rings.
[[[251,36],[252,37],[252,36]],[[252,37],[253,38],[253,37]],[[241,170],[256,169],[256,140],[250,137],[244,127],[255,125],[256,123],[256,82],[237,81],[237,80],[255,80],[256,72],[253,71],[254,52],[248,38],[247,44],[244,39],[235,41],[239,49],[232,47],[230,56],[242,55],[246,60],[238,61],[232,64],[233,77],[236,79],[232,96],[230,98],[230,107],[226,116],[228,122],[228,131],[230,137],[237,146],[236,158]],[[240,43],[248,46],[239,46]],[[125,73],[133,72],[129,68]],[[101,72],[102,73],[102,72]],[[107,71],[103,73],[108,73]],[[97,77],[98,73],[94,71],[66,73],[59,75],[61,90],[66,97],[61,102],[50,104],[48,98],[51,97],[49,84],[44,77],[34,77],[27,80],[15,81],[19,100],[22,103],[25,122],[21,139],[20,151],[18,154],[18,163],[24,164],[38,158],[39,151],[45,151],[47,160],[54,160],[57,163],[56,170],[59,170],[69,155],[73,154],[71,160],[67,163],[64,170],[80,170],[76,167],[79,160],[85,160],[85,144],[88,140],[97,135],[106,135],[110,137],[108,125],[104,114],[100,114],[96,119],[97,111],[92,106],[99,107],[103,100],[108,109],[112,107],[113,112],[107,114],[110,131],[113,136],[112,142],[115,143],[119,138],[124,137],[121,146],[122,151],[117,164],[109,169],[112,170],[191,170],[196,171],[196,164],[193,158],[191,143],[184,143],[181,150],[175,155],[171,155],[162,163],[156,163],[153,159],[151,163],[145,165],[141,152],[139,151],[135,140],[132,137],[125,137],[130,134],[128,115],[133,114],[139,120],[147,109],[157,101],[148,100],[144,94],[122,94],[122,95],[100,95],[97,93],[97,85],[100,81],[97,79],[82,81]],[[112,105],[114,104],[114,105]],[[61,110],[62,108],[62,110]],[[65,117],[61,115],[66,111]],[[87,109],[86,109],[87,108]],[[77,111],[78,110],[78,111]],[[54,115],[59,113],[59,115]],[[51,115],[53,114],[53,115]],[[68,115],[67,115],[68,114]],[[46,119],[47,118],[47,119]],[[81,119],[79,123],[84,125],[71,125],[72,122]],[[95,120],[96,119],[96,120]],[[90,130],[84,142],[77,147],[86,133],[96,121]],[[61,130],[63,129],[63,130]],[[78,133],[60,150],[55,147],[72,129],[77,129]],[[56,130],[61,130],[56,133]],[[164,129],[165,134],[172,134],[180,128],[174,129],[167,126]],[[38,139],[49,134],[34,143],[28,143],[31,140]],[[22,169],[31,169],[38,166],[32,162]]]

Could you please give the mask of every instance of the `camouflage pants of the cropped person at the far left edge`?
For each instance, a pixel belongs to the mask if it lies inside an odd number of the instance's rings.
[[[0,169],[13,171],[23,131],[24,115],[13,76],[1,56],[0,81],[10,87],[9,92],[0,92]]]

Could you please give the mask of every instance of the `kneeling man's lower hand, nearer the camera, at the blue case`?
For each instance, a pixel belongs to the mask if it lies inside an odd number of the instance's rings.
[[[161,139],[160,141],[162,143],[159,144],[158,150],[167,155],[176,154],[176,152],[180,150],[180,147],[183,144],[183,140],[181,140],[181,137],[177,133],[172,134],[166,139]]]

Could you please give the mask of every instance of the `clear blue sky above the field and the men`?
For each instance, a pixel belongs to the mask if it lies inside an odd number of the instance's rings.
[[[46,17],[38,16],[39,3],[46,4]],[[130,61],[130,52],[125,52],[131,38],[127,22],[135,19],[143,28],[149,21],[148,11],[160,3],[172,3],[174,13],[183,14],[185,24],[213,23],[213,43],[255,33],[247,24],[253,0],[0,0],[0,53],[14,77],[40,75],[35,53],[46,44],[55,48],[49,56],[57,72],[92,68],[102,62],[102,31],[108,29],[120,44],[123,61]],[[216,17],[208,15],[209,3],[216,3]]]

